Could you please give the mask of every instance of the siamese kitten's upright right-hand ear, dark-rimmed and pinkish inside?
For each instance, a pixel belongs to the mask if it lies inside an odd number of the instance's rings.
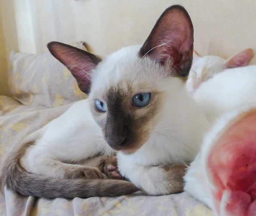
[[[164,65],[173,62],[171,75],[186,77],[193,60],[194,30],[188,12],[180,5],[167,8],[157,20],[139,55]]]

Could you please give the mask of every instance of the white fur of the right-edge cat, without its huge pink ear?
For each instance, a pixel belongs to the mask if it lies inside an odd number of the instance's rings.
[[[212,209],[215,208],[209,188],[214,184],[206,167],[208,155],[215,139],[231,120],[256,107],[255,93],[256,66],[247,66],[226,69],[204,82],[194,94],[194,99],[204,109],[213,128],[204,137],[201,150],[185,175],[185,190]]]

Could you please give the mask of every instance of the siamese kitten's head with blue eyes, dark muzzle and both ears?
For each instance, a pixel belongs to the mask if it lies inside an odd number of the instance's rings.
[[[122,48],[103,60],[59,42],[48,48],[89,93],[108,144],[129,154],[179,111],[193,57],[193,26],[187,11],[175,5],[163,12],[142,46]]]

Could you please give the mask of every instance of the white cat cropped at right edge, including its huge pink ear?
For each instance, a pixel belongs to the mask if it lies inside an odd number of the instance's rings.
[[[225,69],[193,97],[213,127],[185,190],[218,216],[256,216],[256,66]]]

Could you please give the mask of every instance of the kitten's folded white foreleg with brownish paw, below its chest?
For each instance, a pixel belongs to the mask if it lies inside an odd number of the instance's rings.
[[[120,174],[148,195],[168,195],[183,191],[183,177],[187,169],[185,164],[143,166],[119,159]]]

